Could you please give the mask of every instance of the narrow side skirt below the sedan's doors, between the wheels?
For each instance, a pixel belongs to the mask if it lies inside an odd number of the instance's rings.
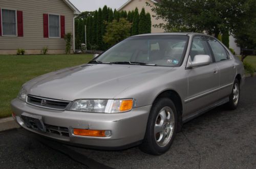
[[[199,116],[201,116],[202,114],[204,114],[205,112],[207,112],[207,111],[209,111],[209,110],[211,110],[211,109],[214,109],[214,108],[217,107],[217,106],[220,106],[220,105],[222,105],[222,104],[225,104],[225,103],[227,103],[228,101],[229,101],[229,97],[226,97],[226,98],[224,98],[224,99],[222,99],[222,100],[216,102],[215,104],[212,104],[212,105],[210,105],[210,106],[208,106],[208,107],[206,107],[206,108],[204,108],[204,109],[202,109],[202,110],[199,110],[199,111],[195,112],[195,114],[193,114],[193,115],[191,115],[191,116],[185,118],[185,119],[183,120],[183,123],[186,123],[186,122],[188,122],[188,121],[190,121],[190,120],[192,120],[192,119],[194,119],[194,118],[196,118],[196,117],[199,117]]]

